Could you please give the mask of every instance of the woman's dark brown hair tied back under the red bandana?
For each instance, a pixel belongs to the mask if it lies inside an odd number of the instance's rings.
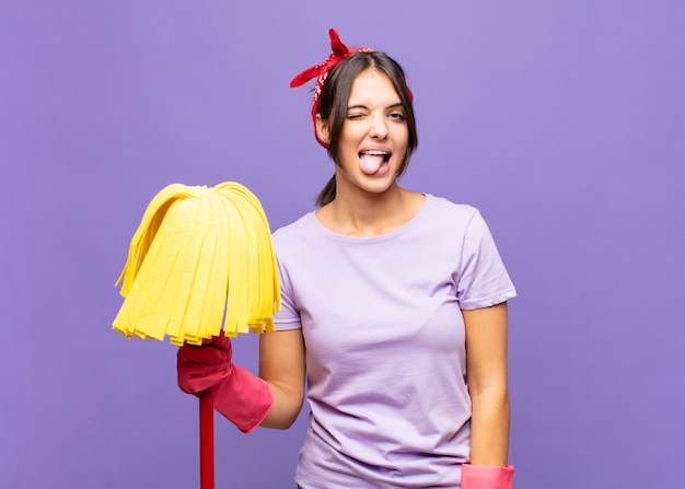
[[[347,103],[349,101],[352,83],[359,73],[373,69],[384,73],[393,83],[395,91],[399,95],[399,101],[405,109],[405,120],[409,131],[407,151],[403,158],[397,176],[400,176],[409,163],[411,153],[418,145],[418,135],[416,131],[416,119],[411,105],[411,92],[407,86],[405,73],[402,67],[390,56],[382,51],[358,51],[340,61],[328,73],[318,98],[318,115],[326,121],[328,128],[328,155],[339,164],[338,144],[340,131],[347,116]],[[335,199],[336,184],[335,175],[328,181],[326,186],[316,197],[316,205],[323,207]]]

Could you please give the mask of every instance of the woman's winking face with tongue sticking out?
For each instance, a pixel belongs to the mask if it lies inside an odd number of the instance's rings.
[[[345,186],[385,191],[395,184],[408,140],[405,109],[391,80],[373,69],[359,73],[338,141],[337,191]]]

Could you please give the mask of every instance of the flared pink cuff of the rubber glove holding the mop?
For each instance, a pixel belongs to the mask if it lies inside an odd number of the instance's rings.
[[[274,394],[258,376],[236,364],[231,366],[231,375],[213,387],[214,409],[243,433],[249,433],[268,416]]]

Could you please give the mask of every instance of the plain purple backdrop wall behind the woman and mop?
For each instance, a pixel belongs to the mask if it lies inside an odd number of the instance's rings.
[[[684,25],[680,0],[0,2],[0,486],[199,486],[175,348],[111,329],[114,281],[167,184],[240,182],[272,229],[312,209],[333,170],[288,83],[335,26],[407,71],[404,184],[480,208],[518,286],[516,487],[682,487]],[[293,486],[304,416],[217,419],[218,487]]]

